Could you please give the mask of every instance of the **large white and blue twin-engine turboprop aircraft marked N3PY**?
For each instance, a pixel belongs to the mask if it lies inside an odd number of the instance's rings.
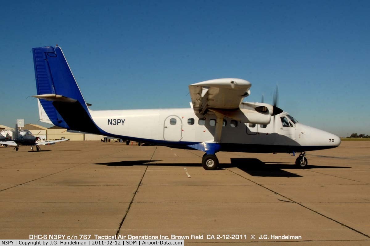
[[[340,138],[299,123],[276,105],[242,102],[250,82],[221,78],[189,85],[191,108],[89,109],[60,47],[33,48],[40,118],[68,130],[205,152],[202,166],[218,167],[216,152],[305,152],[335,148]]]

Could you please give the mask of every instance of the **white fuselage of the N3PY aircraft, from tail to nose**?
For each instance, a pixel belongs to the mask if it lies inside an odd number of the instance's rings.
[[[142,142],[153,142],[162,145],[188,145],[189,143],[215,142],[216,121],[214,114],[196,115],[192,108],[182,109],[139,109],[139,110],[107,110],[92,111],[91,117],[95,124],[107,135],[124,136]],[[293,123],[283,127],[280,117],[288,115],[283,112],[272,117],[270,124],[253,125],[240,123],[225,118],[226,125],[222,127],[220,144],[276,146],[266,152],[290,152],[279,146],[307,146],[313,149],[333,148],[340,144],[340,138],[329,132]],[[214,121],[212,121],[214,120]],[[275,122],[274,122],[275,121]],[[194,122],[194,124],[192,124]],[[200,123],[200,124],[199,124]],[[231,124],[232,123],[232,124]],[[124,138],[122,137],[122,138]],[[307,148],[307,150],[313,150]],[[221,151],[265,152],[261,149],[227,148]],[[295,151],[293,149],[293,151]],[[296,151],[301,151],[297,149]],[[302,150],[305,151],[305,150]]]

